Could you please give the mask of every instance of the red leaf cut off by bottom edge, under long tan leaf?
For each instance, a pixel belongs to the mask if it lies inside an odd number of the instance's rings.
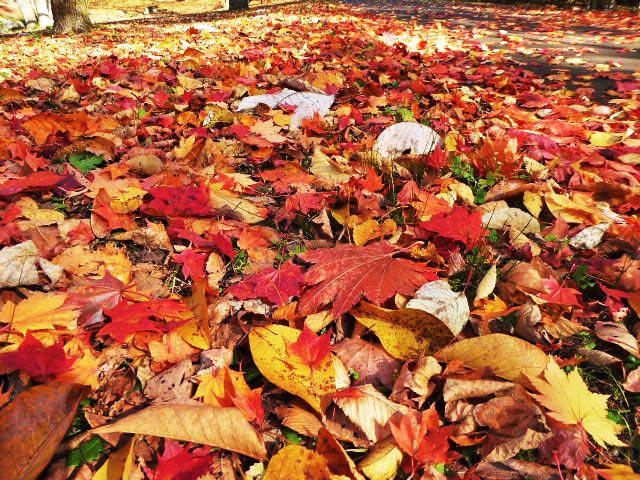
[[[150,480],[191,480],[209,472],[214,461],[208,447],[181,446],[171,439],[164,441],[164,452],[154,470],[144,467]]]

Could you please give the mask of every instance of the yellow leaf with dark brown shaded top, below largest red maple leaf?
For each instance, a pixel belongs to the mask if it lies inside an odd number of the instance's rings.
[[[392,357],[400,360],[431,355],[453,340],[451,330],[424,310],[387,310],[362,302],[351,314],[376,334]]]

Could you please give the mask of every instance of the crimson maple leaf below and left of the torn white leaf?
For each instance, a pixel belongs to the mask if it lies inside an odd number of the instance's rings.
[[[209,206],[209,192],[205,185],[172,187],[161,185],[149,190],[153,197],[144,204],[142,213],[166,217],[208,217],[213,214]]]

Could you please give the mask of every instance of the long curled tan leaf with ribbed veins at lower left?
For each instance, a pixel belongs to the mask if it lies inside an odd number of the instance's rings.
[[[152,405],[93,433],[139,433],[202,443],[265,460],[267,451],[258,431],[235,407],[210,405]]]

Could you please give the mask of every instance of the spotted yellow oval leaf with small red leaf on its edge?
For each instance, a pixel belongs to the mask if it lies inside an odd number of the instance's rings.
[[[327,355],[312,370],[287,348],[298,341],[300,333],[300,330],[284,325],[254,328],[249,333],[251,354],[267,380],[322,413],[322,397],[336,391],[333,357]]]

